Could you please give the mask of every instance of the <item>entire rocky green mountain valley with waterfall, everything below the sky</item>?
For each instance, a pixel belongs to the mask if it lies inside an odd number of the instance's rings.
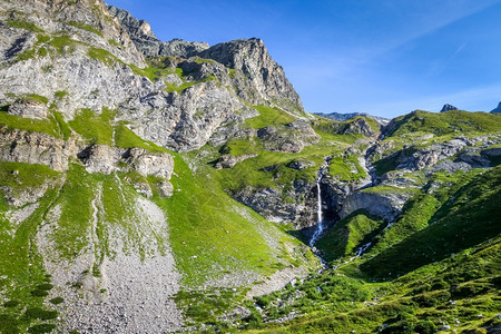
[[[0,30],[0,333],[501,332],[499,112],[323,118],[102,0]]]

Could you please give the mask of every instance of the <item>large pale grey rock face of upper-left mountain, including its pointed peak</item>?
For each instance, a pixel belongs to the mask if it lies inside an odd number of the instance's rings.
[[[117,20],[110,20],[111,16],[104,3],[100,0],[92,1],[96,1],[97,7],[88,7],[84,2],[65,6],[63,1],[51,4],[28,1],[23,10],[27,13],[38,12],[33,16],[35,23],[43,27],[48,42],[38,41],[33,31],[0,26],[0,53],[3,55],[0,59],[0,86],[6,87],[0,91],[0,102],[11,105],[12,114],[39,118],[45,116],[40,108],[14,107],[20,97],[31,94],[45,97],[47,105],[53,105],[66,120],[72,119],[82,108],[96,112],[102,108],[119,109],[119,120],[129,121],[129,127],[137,135],[170,149],[186,151],[205,145],[220,126],[232,121],[242,122],[250,117],[252,112],[248,112],[249,108],[243,100],[248,105],[257,105],[268,104],[264,98],[273,98],[284,108],[301,105],[282,68],[271,59],[261,40],[229,43],[235,45],[235,50],[220,46],[215,48],[220,52],[236,52],[234,63],[245,69],[246,73],[239,69],[230,71],[217,61],[170,59],[173,66],[183,68],[183,78],[168,73],[151,82],[139,75],[137,68],[145,66],[143,56],[118,19],[130,26],[132,36],[154,39],[146,22],[114,9],[109,10]],[[16,9],[12,2],[0,3],[6,12]],[[62,8],[65,14],[59,12]],[[101,11],[97,12],[96,8]],[[0,19],[6,18],[0,13]],[[31,21],[31,17],[20,19]],[[61,23],[59,19],[68,20],[71,24]],[[94,28],[78,28],[79,24],[96,27],[96,31],[89,31]],[[65,46],[60,49],[53,47],[52,39],[65,33]],[[177,50],[183,45],[176,40],[169,46]],[[48,55],[40,53],[42,48]],[[197,48],[199,51],[200,48]],[[243,52],[246,51],[250,53],[245,56]],[[19,58],[26,52],[32,52],[32,56]],[[174,89],[167,89],[167,84]],[[183,85],[191,87],[178,88]],[[278,102],[278,98],[283,99],[282,102]],[[285,100],[288,102],[283,102]],[[289,110],[296,110],[296,107]],[[239,115],[235,111],[239,111]],[[234,126],[219,131],[218,138],[214,140],[227,140],[230,136],[239,136],[239,132],[242,129]]]

